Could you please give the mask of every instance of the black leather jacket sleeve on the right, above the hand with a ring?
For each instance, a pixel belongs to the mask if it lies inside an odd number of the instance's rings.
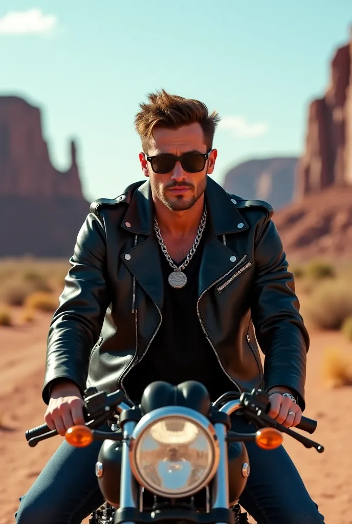
[[[266,391],[273,386],[293,389],[303,410],[309,335],[299,313],[293,275],[271,220],[263,225],[256,241],[255,271],[251,311],[256,337],[265,354]]]

